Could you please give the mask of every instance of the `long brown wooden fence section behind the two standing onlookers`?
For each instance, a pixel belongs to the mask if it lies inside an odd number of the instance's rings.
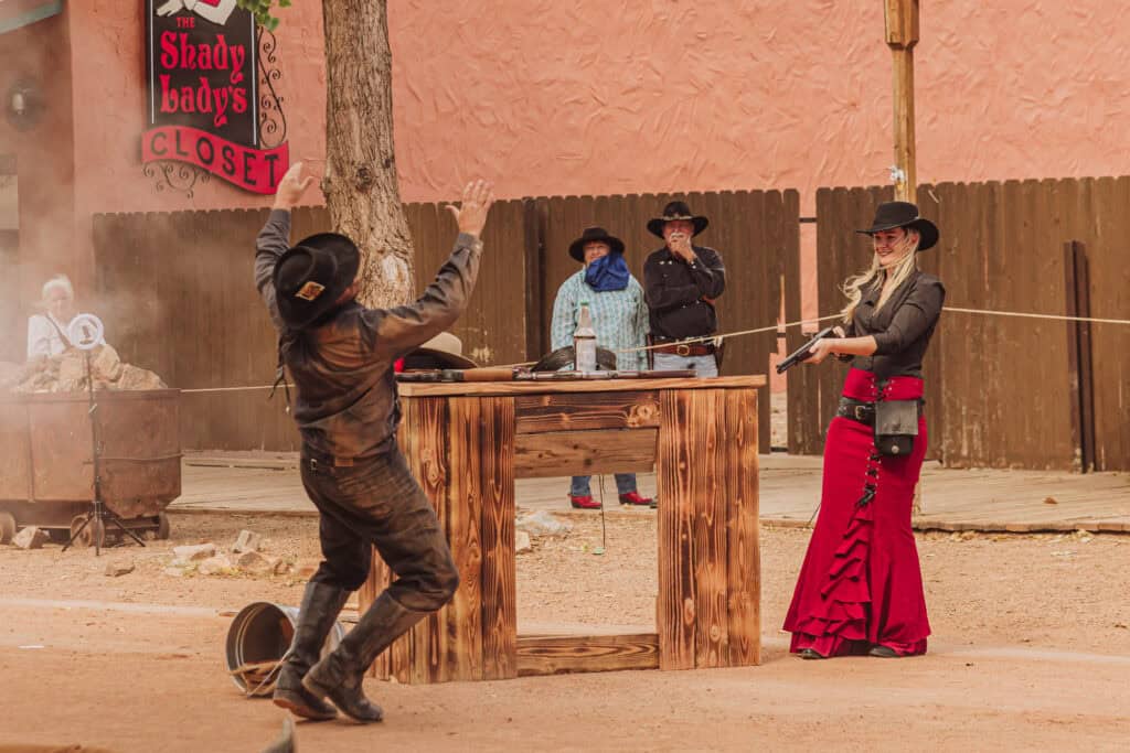
[[[644,228],[675,196],[554,196],[495,204],[484,231],[486,256],[468,312],[453,332],[483,365],[534,360],[549,350],[553,299],[579,269],[568,243],[603,225],[627,244],[629,268],[661,242]],[[799,301],[799,196],[796,191],[689,194],[712,219],[698,237],[720,249],[728,286],[719,314],[728,331],[772,323],[782,296]],[[407,204],[421,290],[446,259],[454,221],[441,204]],[[182,404],[182,444],[198,449],[288,450],[298,445],[281,394],[267,389],[276,340],[252,284],[254,237],[267,210],[98,214],[94,218],[96,310],[123,359],[153,369],[190,393]],[[293,237],[329,228],[323,208],[299,208]],[[798,304],[799,305],[799,304]],[[762,374],[773,333],[732,341],[725,374]],[[758,426],[768,446],[770,401]]]

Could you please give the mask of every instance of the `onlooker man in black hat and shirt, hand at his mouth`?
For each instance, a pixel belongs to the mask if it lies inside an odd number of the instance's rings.
[[[722,255],[690,240],[709,224],[683,201],[670,202],[661,217],[647,221],[652,235],[667,244],[643,265],[651,340],[659,345],[652,351],[657,369],[695,369],[698,376],[718,376],[714,343],[684,342],[718,331],[714,300],[725,290]]]

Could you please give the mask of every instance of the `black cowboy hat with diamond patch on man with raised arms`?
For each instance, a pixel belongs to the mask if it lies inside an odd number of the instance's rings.
[[[275,264],[275,296],[282,322],[301,330],[332,310],[353,284],[360,252],[337,233],[319,233],[301,240]]]

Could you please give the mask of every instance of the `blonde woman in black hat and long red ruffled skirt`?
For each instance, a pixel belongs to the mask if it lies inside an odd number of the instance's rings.
[[[938,228],[895,201],[859,233],[871,236],[875,256],[844,283],[846,331],[819,340],[808,358],[852,364],[825,440],[820,515],[784,621],[791,650],[811,659],[924,654],[930,634],[911,508],[927,444],[922,357],[946,297],[916,259],[938,243]]]

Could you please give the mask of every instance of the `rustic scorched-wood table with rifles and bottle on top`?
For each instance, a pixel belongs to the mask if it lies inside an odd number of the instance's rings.
[[[405,683],[760,662],[757,388],[764,376],[401,384],[400,445],[461,585],[374,665]],[[519,636],[514,479],[657,466],[657,632]],[[379,557],[364,611],[389,583]],[[611,616],[611,615],[610,615]]]

